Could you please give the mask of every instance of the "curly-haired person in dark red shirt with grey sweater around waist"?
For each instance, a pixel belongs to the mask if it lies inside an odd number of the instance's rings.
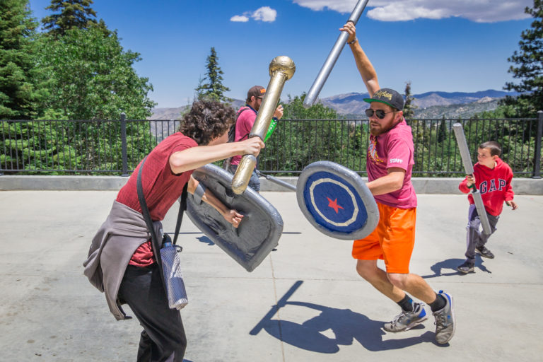
[[[259,137],[226,143],[235,112],[209,100],[196,101],[182,119],[178,132],[160,142],[148,154],[141,173],[146,203],[161,235],[162,221],[175,201],[187,191],[194,194],[198,181],[192,171],[224,158],[252,154],[257,156],[264,142]],[[183,360],[187,339],[178,310],[168,307],[148,230],[141,214],[136,182],[141,163],[119,190],[107,220],[98,230],[85,275],[98,290],[105,292],[107,304],[117,320],[129,317],[122,310],[126,303],[144,328],[137,361]],[[213,206],[229,223],[238,227],[243,218],[229,209],[209,189],[202,200]],[[160,234],[158,234],[160,232]]]

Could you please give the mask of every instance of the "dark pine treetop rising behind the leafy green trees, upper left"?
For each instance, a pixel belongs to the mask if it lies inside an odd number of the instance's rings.
[[[52,0],[51,5],[46,9],[57,11],[50,16],[42,19],[43,28],[49,30],[49,34],[62,36],[66,30],[72,28],[86,29],[91,23],[98,24],[94,19],[95,11],[91,8],[93,0]],[[105,27],[103,21],[100,21],[100,28]]]

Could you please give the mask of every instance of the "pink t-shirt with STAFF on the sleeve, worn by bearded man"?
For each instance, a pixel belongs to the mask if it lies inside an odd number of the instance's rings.
[[[388,194],[376,195],[376,202],[399,209],[416,207],[415,189],[411,184],[411,170],[415,164],[413,154],[413,135],[405,119],[384,134],[370,136],[366,162],[368,181],[388,175],[388,168],[405,170],[402,188]]]

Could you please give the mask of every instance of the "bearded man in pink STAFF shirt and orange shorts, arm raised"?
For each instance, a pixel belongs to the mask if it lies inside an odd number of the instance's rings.
[[[421,276],[409,273],[415,241],[416,194],[411,185],[413,137],[402,113],[404,99],[397,91],[379,87],[375,69],[356,38],[354,23],[346,23],[339,30],[349,33],[347,43],[370,94],[370,98],[364,99],[370,103],[366,115],[371,134],[366,185],[375,196],[380,213],[373,233],[354,240],[356,271],[402,308],[392,322],[383,326],[387,332],[406,331],[426,320],[427,303],[436,317],[436,341],[445,344],[455,334],[452,297],[443,291],[436,293]],[[378,259],[385,261],[386,271],[377,266]],[[406,292],[424,303],[414,302]]]

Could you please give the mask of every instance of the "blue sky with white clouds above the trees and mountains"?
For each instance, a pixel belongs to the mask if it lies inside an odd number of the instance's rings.
[[[157,107],[192,102],[205,76],[211,47],[218,54],[230,98],[267,86],[271,59],[286,55],[296,74],[281,99],[307,92],[356,0],[94,0],[97,19],[117,29],[125,50],[141,54],[134,65],[149,78]],[[49,0],[30,0],[41,19]],[[403,93],[501,90],[513,78],[507,58],[532,18],[533,0],[369,0],[357,24],[358,39],[382,87]],[[341,53],[320,97],[366,92],[349,47]]]

